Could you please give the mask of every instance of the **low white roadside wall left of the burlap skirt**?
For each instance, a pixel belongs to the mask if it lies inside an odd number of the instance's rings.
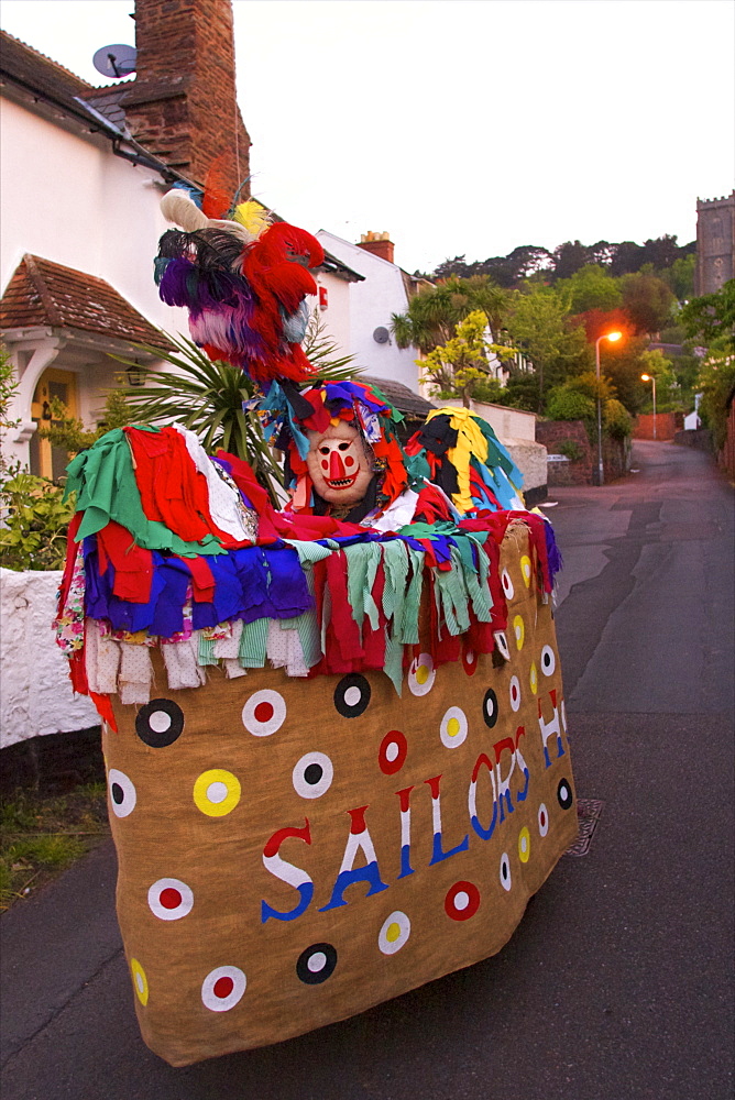
[[[75,695],[52,622],[61,571],[0,569],[0,748],[99,724],[90,700]]]

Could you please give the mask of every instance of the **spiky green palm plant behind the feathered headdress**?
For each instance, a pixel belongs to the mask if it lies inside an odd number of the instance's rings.
[[[122,394],[128,403],[129,422],[171,424],[190,428],[208,453],[218,449],[237,454],[253,468],[257,480],[277,502],[283,486],[283,471],[265,442],[257,413],[243,403],[260,395],[256,385],[240,367],[223,360],[211,361],[191,340],[166,334],[169,351],[141,344],[141,352],[164,360],[172,370],[143,369],[143,385],[128,386]],[[309,380],[340,381],[354,375],[352,355],[340,355],[318,314],[312,314],[304,340],[304,351],[316,367]],[[114,356],[127,366],[140,364]]]

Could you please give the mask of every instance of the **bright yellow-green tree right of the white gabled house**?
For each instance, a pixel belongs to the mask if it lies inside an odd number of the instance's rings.
[[[487,317],[475,309],[458,323],[454,337],[426,359],[417,360],[438,397],[461,397],[462,405],[469,408],[479,384],[486,384],[491,377],[489,352],[507,358],[514,354],[512,348],[489,343],[486,332]]]

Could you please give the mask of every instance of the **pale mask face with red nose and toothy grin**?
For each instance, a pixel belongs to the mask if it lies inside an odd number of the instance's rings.
[[[373,476],[373,459],[365,452],[356,428],[340,420],[325,432],[308,435],[311,447],[306,464],[319,496],[331,505],[362,501]]]

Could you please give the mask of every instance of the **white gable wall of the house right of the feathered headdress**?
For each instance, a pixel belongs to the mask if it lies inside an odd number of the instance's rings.
[[[316,234],[323,248],[333,256],[365,276],[364,283],[347,284],[350,296],[349,342],[345,350],[355,355],[355,365],[368,374],[380,378],[393,378],[418,393],[417,352],[413,348],[402,350],[391,337],[386,344],[373,339],[376,328],[391,330],[392,314],[403,314],[408,307],[406,288],[401,268],[387,260],[381,260],[365,252],[356,244],[343,241],[333,233],[320,229]],[[334,339],[343,339],[344,322],[336,312],[325,314],[325,321]],[[338,332],[342,333],[338,337]]]

